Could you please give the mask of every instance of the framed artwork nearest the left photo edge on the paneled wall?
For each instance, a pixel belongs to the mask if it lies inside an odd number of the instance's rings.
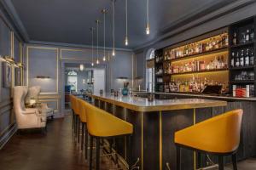
[[[3,62],[3,88],[11,88],[12,83],[12,66]]]

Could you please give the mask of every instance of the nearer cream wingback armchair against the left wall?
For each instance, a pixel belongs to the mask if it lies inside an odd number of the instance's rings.
[[[18,129],[46,126],[46,114],[40,114],[38,109],[26,109],[25,98],[27,87],[14,88],[14,110]]]

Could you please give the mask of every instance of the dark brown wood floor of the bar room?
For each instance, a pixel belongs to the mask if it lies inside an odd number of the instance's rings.
[[[0,150],[2,170],[86,170],[84,152],[73,139],[71,116],[48,123],[48,132],[15,134]],[[113,163],[102,160],[102,170],[109,170]],[[111,168],[110,168],[111,167]],[[225,168],[231,170],[231,166]],[[256,159],[238,163],[239,170],[255,170]]]

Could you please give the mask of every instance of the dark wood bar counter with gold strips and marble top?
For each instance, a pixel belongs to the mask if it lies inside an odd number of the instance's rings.
[[[212,99],[154,99],[148,102],[147,98],[134,96],[85,95],[91,97],[97,107],[131,122],[134,127],[131,162],[133,167],[145,170],[176,169],[174,133],[224,113],[227,105],[226,101]],[[119,160],[126,158],[126,150],[129,150],[126,139],[115,139],[114,143]],[[243,153],[244,147],[241,149]],[[244,158],[239,156],[239,159]],[[201,165],[206,165],[206,157],[201,156]],[[182,169],[196,169],[198,161],[195,152],[182,150]]]

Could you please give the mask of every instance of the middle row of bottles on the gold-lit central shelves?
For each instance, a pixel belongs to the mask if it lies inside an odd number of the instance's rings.
[[[165,73],[177,74],[193,71],[214,71],[228,68],[228,61],[224,59],[224,55],[218,55],[212,60],[194,60],[183,65],[168,64]]]

